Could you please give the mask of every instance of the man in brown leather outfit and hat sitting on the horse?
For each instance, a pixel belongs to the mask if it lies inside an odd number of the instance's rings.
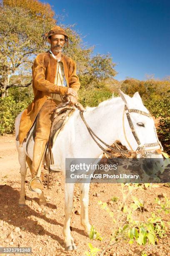
[[[50,135],[53,110],[61,102],[70,101],[70,105],[77,104],[77,91],[80,82],[76,74],[75,62],[62,54],[68,36],[59,26],[54,26],[44,36],[51,47],[47,52],[38,54],[32,66],[32,87],[34,99],[23,111],[20,120],[19,142],[23,143],[36,119],[35,144],[32,160],[32,176],[37,169],[45,151]],[[32,191],[40,191],[42,185],[39,179],[30,183]]]

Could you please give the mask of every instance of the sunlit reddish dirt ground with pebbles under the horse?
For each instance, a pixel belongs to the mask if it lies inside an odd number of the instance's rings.
[[[120,184],[90,184],[89,219],[92,225],[102,236],[104,241],[90,241],[84,235],[80,225],[80,192],[79,186],[75,186],[74,210],[71,219],[72,237],[77,246],[76,251],[67,252],[64,249],[62,227],[64,223],[64,190],[62,174],[52,176],[50,189],[44,187],[44,194],[47,198],[46,206],[39,206],[37,195],[28,189],[28,181],[31,174],[28,169],[26,175],[26,206],[18,207],[20,192],[20,166],[18,163],[18,153],[15,148],[15,137],[13,135],[0,137],[0,247],[32,247],[32,255],[84,255],[88,251],[88,243],[94,247],[104,248],[109,241],[114,224],[105,210],[102,210],[97,201],[110,202],[110,199],[118,197],[121,200]],[[136,191],[135,195],[145,201],[148,211],[135,212],[137,220],[147,220],[151,212],[156,212],[158,206],[154,198],[158,195],[166,195],[170,198],[170,187],[159,184],[158,187]],[[117,215],[118,202],[108,203],[110,209]],[[76,212],[76,213],[75,213]],[[164,213],[161,218],[168,222],[170,216]],[[168,226],[168,224],[166,224]],[[18,228],[16,228],[18,227]],[[145,249],[147,255],[170,256],[170,230],[167,230],[167,237],[158,241],[156,246],[148,245]],[[150,249],[151,248],[151,249]],[[143,246],[137,243],[132,245],[124,242],[118,243],[112,248],[108,248],[105,255],[129,256],[141,255]],[[7,254],[14,255],[14,254]]]

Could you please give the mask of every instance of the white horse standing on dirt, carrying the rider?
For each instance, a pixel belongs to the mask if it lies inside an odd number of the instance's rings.
[[[130,111],[130,119],[133,123],[134,130],[138,136],[140,144],[137,143],[134,134],[130,128],[126,113],[127,109],[140,110],[134,113]],[[16,136],[18,135],[21,113],[15,121]],[[147,158],[163,158],[157,153],[160,148],[153,118],[149,117],[149,112],[143,105],[141,97],[136,92],[133,97],[125,95],[120,91],[120,97],[113,97],[110,100],[101,102],[98,107],[86,108],[84,118],[92,131],[102,139],[105,143],[112,145],[115,141],[120,141],[129,151],[138,149],[138,157],[141,157],[142,152],[146,153]],[[26,157],[32,159],[33,140],[28,146],[26,152],[26,142],[19,146],[16,141],[16,146],[19,154],[20,174],[21,174],[21,191],[19,204],[25,205],[25,175],[26,175]],[[107,148],[104,146],[104,148]],[[141,150],[143,149],[143,151]],[[147,151],[146,151],[147,149]],[[100,149],[95,141],[90,136],[85,123],[83,123],[79,110],[75,110],[72,116],[65,124],[64,129],[59,133],[52,148],[54,165],[52,169],[60,170],[65,178],[65,159],[66,158],[93,158],[97,159],[94,164],[97,164],[102,157],[102,149]],[[161,160],[161,159],[160,159]],[[88,204],[89,204],[89,183],[80,184],[80,204],[81,224],[85,233],[90,233],[90,223],[88,219]],[[74,184],[65,183],[65,223],[63,227],[63,235],[66,250],[74,250],[76,248],[73,238],[70,233],[70,218],[73,210],[73,192]],[[41,202],[45,203],[43,193],[40,195]]]

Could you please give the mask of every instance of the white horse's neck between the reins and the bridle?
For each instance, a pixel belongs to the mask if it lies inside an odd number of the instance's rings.
[[[119,97],[102,102],[98,107],[89,108],[84,113],[85,120],[92,131],[109,145],[120,138],[123,107]]]

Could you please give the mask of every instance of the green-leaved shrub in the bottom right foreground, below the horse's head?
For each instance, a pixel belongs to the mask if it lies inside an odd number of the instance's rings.
[[[134,212],[138,210],[138,208],[144,208],[144,202],[133,196],[133,191],[135,191],[135,189],[143,189],[143,187],[141,184],[121,184],[122,202],[120,202],[116,218],[114,218],[115,214],[110,210],[106,202],[98,202],[98,204],[101,205],[101,208],[107,211],[114,223],[110,241],[102,250],[100,255],[103,255],[109,247],[114,246],[120,241],[128,241],[130,244],[136,241],[138,245],[143,246],[147,243],[155,245],[159,238],[166,236],[165,222],[154,213],[151,213],[151,217],[148,218],[147,221],[133,219]],[[130,207],[128,207],[126,203],[128,197],[131,197],[133,200]],[[168,213],[167,210],[170,207],[170,201],[168,198],[165,198],[165,204],[161,203],[159,199],[157,199],[156,202],[161,207],[161,210],[159,210],[158,213],[161,211]],[[90,238],[92,237],[95,238],[95,232],[93,230],[90,233]],[[95,249],[97,250],[99,248]],[[143,252],[143,255],[147,254]]]

